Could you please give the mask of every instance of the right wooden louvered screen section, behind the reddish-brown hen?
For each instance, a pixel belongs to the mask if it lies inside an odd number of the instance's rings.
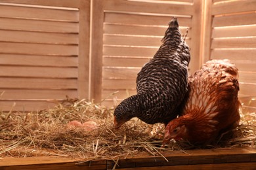
[[[240,97],[256,96],[256,1],[215,0],[207,7],[205,60],[236,63]]]

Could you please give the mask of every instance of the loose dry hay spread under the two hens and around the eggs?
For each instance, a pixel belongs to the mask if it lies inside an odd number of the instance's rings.
[[[163,126],[150,126],[133,118],[120,129],[114,129],[113,111],[93,102],[67,99],[54,109],[39,112],[0,113],[0,156],[64,156],[83,160],[135,157],[141,153],[163,156],[173,150],[195,148],[189,143],[172,142],[161,148]],[[241,112],[241,125],[225,147],[255,148],[255,113]],[[87,131],[68,122],[94,121],[98,128]],[[221,137],[222,138],[222,137]],[[220,138],[219,141],[222,141]],[[222,147],[217,143],[213,147]],[[163,156],[164,158],[164,156]]]

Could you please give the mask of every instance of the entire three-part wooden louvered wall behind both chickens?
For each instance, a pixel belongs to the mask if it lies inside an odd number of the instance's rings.
[[[0,109],[46,109],[66,95],[99,102],[118,90],[102,103],[112,106],[135,94],[173,16],[188,28],[190,73],[229,58],[240,96],[256,95],[255,9],[253,0],[1,1]]]

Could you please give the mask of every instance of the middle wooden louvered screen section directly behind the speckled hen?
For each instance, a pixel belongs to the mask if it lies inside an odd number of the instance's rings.
[[[136,77],[144,63],[154,56],[173,16],[179,19],[188,37],[192,61],[190,70],[200,65],[201,1],[93,1],[92,97],[97,101],[110,93],[117,102],[136,93]],[[102,76],[101,76],[102,75]],[[112,98],[104,105],[113,105]]]

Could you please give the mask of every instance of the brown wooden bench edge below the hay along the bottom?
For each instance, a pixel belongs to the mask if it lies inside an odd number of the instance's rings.
[[[256,169],[253,148],[219,148],[163,153],[162,156],[142,154],[123,160],[74,160],[57,156],[0,158],[0,169]]]

